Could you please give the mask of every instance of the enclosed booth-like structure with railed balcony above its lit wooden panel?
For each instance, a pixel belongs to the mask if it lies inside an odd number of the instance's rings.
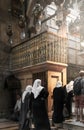
[[[29,77],[21,79],[23,89],[34,79],[42,79],[43,86],[49,90],[50,111],[56,81],[62,80],[63,85],[66,84],[67,39],[49,32],[41,33],[12,48],[11,67],[19,78],[23,73]]]

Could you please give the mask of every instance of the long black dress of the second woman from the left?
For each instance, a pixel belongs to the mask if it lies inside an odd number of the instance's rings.
[[[50,123],[46,109],[48,92],[43,88],[37,98],[33,99],[33,120],[35,130],[50,130]]]

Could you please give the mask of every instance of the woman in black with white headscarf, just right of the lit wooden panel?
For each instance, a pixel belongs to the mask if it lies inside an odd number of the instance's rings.
[[[53,116],[52,120],[56,128],[62,127],[63,106],[64,106],[65,94],[62,87],[62,82],[58,81],[56,87],[53,90]]]

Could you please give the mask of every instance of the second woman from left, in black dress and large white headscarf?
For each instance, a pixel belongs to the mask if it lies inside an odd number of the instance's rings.
[[[46,109],[48,91],[41,86],[41,80],[36,79],[32,88],[33,93],[33,120],[35,130],[50,130],[50,123]]]

